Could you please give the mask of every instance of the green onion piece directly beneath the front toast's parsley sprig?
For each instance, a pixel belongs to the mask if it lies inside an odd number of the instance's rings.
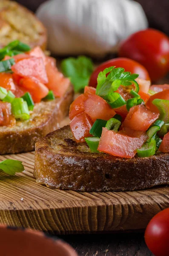
[[[119,93],[109,93],[104,99],[112,108],[120,108],[126,104],[125,99]]]

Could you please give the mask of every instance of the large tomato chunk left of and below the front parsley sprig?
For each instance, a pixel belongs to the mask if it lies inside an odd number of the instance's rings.
[[[90,116],[93,122],[95,122],[96,119],[109,120],[115,115],[115,111],[100,96],[85,93],[84,97],[84,111]]]

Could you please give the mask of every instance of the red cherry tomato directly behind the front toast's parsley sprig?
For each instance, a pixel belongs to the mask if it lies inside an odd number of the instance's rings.
[[[89,86],[96,87],[97,86],[97,76],[100,71],[103,71],[106,67],[123,67],[125,71],[139,74],[139,78],[150,80],[149,73],[145,67],[139,64],[136,61],[133,61],[129,58],[114,58],[109,61],[103,62],[100,66],[98,66],[95,71],[92,73],[92,76],[89,81]]]

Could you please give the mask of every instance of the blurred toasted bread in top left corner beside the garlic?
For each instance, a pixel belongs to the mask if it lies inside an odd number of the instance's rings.
[[[46,49],[46,29],[37,17],[14,1],[0,0],[0,48],[17,39]]]

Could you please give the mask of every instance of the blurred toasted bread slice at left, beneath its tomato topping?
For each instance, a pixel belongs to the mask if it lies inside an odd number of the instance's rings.
[[[69,86],[63,97],[35,104],[29,120],[0,127],[0,154],[34,150],[40,138],[59,127],[60,121],[69,112],[73,94],[73,88]]]

